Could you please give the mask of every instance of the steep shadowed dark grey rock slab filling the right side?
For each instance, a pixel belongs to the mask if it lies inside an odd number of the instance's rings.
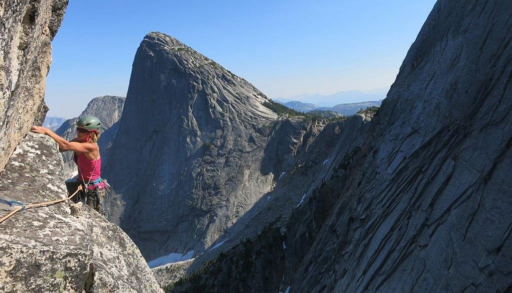
[[[283,246],[266,253],[284,258],[268,266],[283,279],[269,290],[512,288],[511,11],[507,1],[438,1],[377,115],[339,140],[321,183],[278,226]],[[191,265],[199,277],[175,290],[224,288],[212,272],[241,245],[203,271]]]

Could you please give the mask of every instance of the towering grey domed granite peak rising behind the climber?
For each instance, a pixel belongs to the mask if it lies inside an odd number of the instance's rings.
[[[146,259],[204,251],[271,189],[260,162],[278,116],[265,101],[178,40],[144,37],[104,175],[110,219]]]

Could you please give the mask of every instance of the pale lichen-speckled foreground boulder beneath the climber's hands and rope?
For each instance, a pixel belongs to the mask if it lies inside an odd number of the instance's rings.
[[[0,198],[33,204],[67,194],[49,137],[29,133],[0,176]],[[0,206],[0,213],[11,208]],[[89,207],[66,202],[0,224],[2,292],[159,292],[137,246]]]

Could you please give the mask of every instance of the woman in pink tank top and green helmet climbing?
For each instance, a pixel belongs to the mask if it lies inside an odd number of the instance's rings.
[[[100,128],[101,123],[98,118],[86,116],[79,118],[76,122],[77,137],[69,142],[46,127],[33,126],[32,132],[51,137],[59,145],[60,152],[75,152],[73,159],[78,167],[78,181],[66,182],[68,192],[72,194],[81,185],[82,191],[78,192],[72,200],[82,201],[99,213],[103,213],[105,182],[100,176],[101,157],[98,147]]]

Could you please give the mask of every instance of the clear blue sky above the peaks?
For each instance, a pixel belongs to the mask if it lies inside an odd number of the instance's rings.
[[[48,116],[125,96],[145,34],[178,38],[269,97],[385,93],[434,0],[70,0],[52,42]],[[343,101],[340,101],[343,102]]]

